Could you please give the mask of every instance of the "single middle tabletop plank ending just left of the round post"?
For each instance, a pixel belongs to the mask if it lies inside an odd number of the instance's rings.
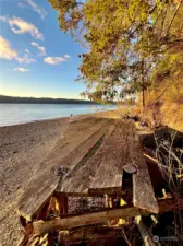
[[[122,190],[122,169],[130,155],[130,141],[133,141],[133,139],[127,141],[130,132],[131,125],[129,121],[117,120],[114,131],[103,147],[105,155],[90,183],[90,191],[100,188],[121,188]]]

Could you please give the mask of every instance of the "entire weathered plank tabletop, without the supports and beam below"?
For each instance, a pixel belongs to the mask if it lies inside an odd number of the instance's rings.
[[[125,172],[132,175],[133,206],[158,213],[135,124],[97,117],[73,120],[35,169],[19,214],[33,221],[54,192],[64,198],[121,195]]]

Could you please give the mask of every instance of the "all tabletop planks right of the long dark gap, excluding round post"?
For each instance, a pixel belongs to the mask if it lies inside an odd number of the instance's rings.
[[[157,212],[150,176],[139,145],[135,125],[115,120],[96,153],[61,184],[64,194],[87,196],[122,191],[123,167],[136,167],[133,174],[134,206]]]

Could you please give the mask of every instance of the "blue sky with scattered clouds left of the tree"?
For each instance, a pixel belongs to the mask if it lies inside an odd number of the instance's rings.
[[[0,0],[0,94],[80,98],[83,51],[47,0]]]

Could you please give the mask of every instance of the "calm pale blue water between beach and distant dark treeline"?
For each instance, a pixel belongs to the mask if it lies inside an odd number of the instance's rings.
[[[115,106],[76,104],[0,104],[0,126],[10,126],[35,120],[89,114],[114,109]]]

